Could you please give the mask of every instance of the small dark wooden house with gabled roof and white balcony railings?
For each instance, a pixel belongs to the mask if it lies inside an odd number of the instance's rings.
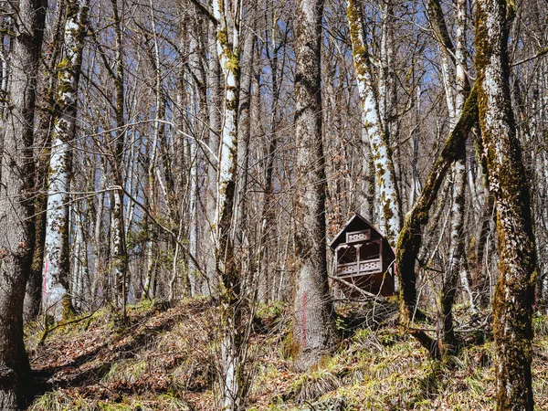
[[[388,241],[359,214],[346,223],[329,244],[335,254],[333,276],[337,292],[346,298],[361,297],[361,290],[390,296],[395,294],[395,254]],[[353,286],[350,286],[352,284]]]

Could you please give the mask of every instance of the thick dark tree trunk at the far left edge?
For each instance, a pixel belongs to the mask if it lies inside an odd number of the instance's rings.
[[[0,169],[0,409],[25,407],[32,375],[23,342],[23,299],[33,256],[33,122],[47,4],[21,0],[16,13],[10,110]]]

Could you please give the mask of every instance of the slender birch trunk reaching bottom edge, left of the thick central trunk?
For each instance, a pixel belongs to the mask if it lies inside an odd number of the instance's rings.
[[[240,93],[239,19],[241,4],[232,4],[233,27],[227,26],[224,0],[213,2],[216,18],[216,53],[225,78],[223,128],[217,165],[216,271],[221,300],[221,398],[225,410],[240,410],[247,390],[244,380],[246,349],[242,347],[241,278],[231,235],[237,175],[237,132]],[[229,39],[229,36],[232,36]]]

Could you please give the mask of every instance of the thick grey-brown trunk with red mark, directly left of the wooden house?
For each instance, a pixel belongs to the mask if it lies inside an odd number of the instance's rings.
[[[295,367],[310,370],[336,341],[327,283],[325,159],[321,138],[322,0],[301,0],[295,38]]]

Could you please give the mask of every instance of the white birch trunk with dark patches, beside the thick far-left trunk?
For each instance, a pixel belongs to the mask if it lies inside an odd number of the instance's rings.
[[[79,71],[87,31],[88,0],[65,2],[64,57],[58,64],[57,115],[54,120],[47,189],[46,241],[44,245],[43,311],[55,321],[73,311],[68,290],[68,202],[72,174]]]

